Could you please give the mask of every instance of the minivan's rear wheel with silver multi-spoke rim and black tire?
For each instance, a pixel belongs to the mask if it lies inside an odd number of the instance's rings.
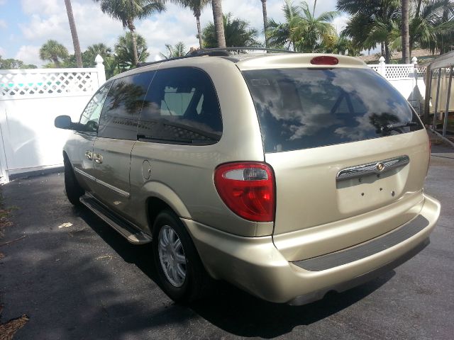
[[[211,279],[182,222],[169,210],[156,217],[153,257],[162,290],[172,300],[191,302],[202,297]]]

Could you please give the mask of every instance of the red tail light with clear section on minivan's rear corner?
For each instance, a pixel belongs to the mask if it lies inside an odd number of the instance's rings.
[[[254,222],[275,220],[275,178],[271,166],[241,162],[218,166],[214,184],[236,215]]]

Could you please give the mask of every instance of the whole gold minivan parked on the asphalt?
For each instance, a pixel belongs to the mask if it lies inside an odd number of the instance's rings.
[[[118,74],[55,126],[74,130],[70,202],[152,242],[176,301],[212,279],[318,300],[414,256],[440,213],[421,120],[353,57],[202,50]]]

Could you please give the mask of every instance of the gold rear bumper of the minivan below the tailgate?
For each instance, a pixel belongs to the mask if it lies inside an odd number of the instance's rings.
[[[182,221],[211,276],[264,300],[301,305],[321,299],[330,290],[341,292],[364,283],[410,259],[428,244],[439,215],[440,203],[424,196],[419,215],[391,232],[350,249],[297,262],[287,261],[272,237],[238,237],[192,220]]]

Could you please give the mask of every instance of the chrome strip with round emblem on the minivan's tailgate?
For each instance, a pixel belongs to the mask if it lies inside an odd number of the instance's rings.
[[[367,175],[379,175],[392,169],[399,168],[409,164],[410,158],[406,155],[384,159],[383,161],[351,166],[350,168],[342,169],[336,176],[336,181],[345,179],[355,179]]]

